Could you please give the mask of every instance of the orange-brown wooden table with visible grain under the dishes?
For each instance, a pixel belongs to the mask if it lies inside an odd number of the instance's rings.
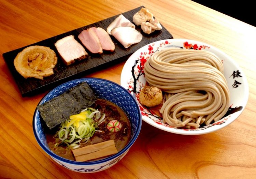
[[[2,54],[141,5],[174,38],[202,41],[231,56],[246,74],[248,103],[236,121],[205,135],[176,135],[143,122],[124,159],[99,173],[61,167],[40,148],[32,130],[34,109],[46,92],[22,98]],[[2,0],[0,10],[0,178],[255,178],[255,27],[188,0]],[[86,77],[120,83],[124,63]]]

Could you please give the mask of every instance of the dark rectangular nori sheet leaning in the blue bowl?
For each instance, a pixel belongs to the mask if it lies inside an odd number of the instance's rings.
[[[86,82],[71,88],[65,93],[53,98],[37,108],[49,129],[54,128],[71,115],[91,106],[96,101],[93,90]]]

